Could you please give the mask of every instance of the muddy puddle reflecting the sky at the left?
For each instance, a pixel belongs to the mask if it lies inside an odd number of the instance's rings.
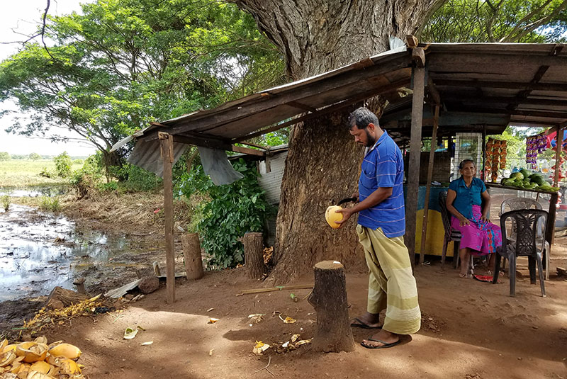
[[[8,212],[0,210],[0,302],[47,295],[56,285],[72,289],[78,277],[86,278],[87,290],[105,290],[147,267],[143,256],[151,250],[124,235],[11,204]]]

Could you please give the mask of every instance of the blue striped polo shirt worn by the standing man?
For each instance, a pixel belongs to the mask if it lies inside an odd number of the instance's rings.
[[[405,234],[403,202],[403,157],[386,131],[364,155],[359,179],[360,201],[378,187],[391,187],[392,195],[378,205],[359,212],[359,224],[382,232],[388,238]]]

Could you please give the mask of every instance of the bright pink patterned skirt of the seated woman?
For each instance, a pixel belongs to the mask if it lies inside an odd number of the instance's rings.
[[[502,231],[498,225],[481,220],[481,207],[473,205],[473,217],[469,225],[459,225],[459,219],[451,217],[451,227],[461,232],[460,248],[468,247],[471,254],[493,254],[502,246]]]

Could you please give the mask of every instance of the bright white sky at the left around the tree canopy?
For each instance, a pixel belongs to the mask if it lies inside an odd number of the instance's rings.
[[[18,48],[21,47],[19,43],[6,43],[26,40],[25,36],[17,33],[30,35],[36,30],[36,26],[41,22],[45,6],[47,6],[47,0],[0,1],[2,3],[0,11],[0,60],[5,60],[10,55],[18,52]],[[48,14],[61,16],[73,11],[80,12],[80,4],[91,1],[51,0]],[[0,103],[0,111],[5,109],[18,111],[16,104],[10,101]],[[19,115],[22,114],[20,113]],[[66,143],[55,143],[45,138],[30,138],[6,133],[5,129],[10,124],[11,116],[7,115],[0,118],[0,152],[9,152],[10,154],[30,154],[36,152],[41,155],[57,155],[66,151],[71,156],[87,156],[94,154],[96,151],[92,145],[86,142],[69,141]],[[60,129],[57,129],[57,134],[69,138],[79,137],[71,132],[62,132]]]

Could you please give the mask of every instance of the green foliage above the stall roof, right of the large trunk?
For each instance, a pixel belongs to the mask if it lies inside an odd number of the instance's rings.
[[[427,21],[420,40],[559,43],[566,30],[563,0],[448,0]]]

